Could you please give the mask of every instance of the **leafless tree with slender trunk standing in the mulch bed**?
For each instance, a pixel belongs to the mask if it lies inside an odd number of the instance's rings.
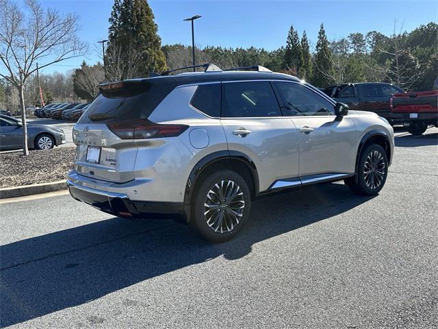
[[[79,41],[79,24],[73,14],[44,10],[37,0],[25,0],[24,10],[14,0],[0,0],[0,77],[17,90],[23,122],[23,149],[27,148],[24,88],[36,63],[40,69],[68,58],[81,56],[86,44]],[[1,69],[1,67],[0,67]]]

